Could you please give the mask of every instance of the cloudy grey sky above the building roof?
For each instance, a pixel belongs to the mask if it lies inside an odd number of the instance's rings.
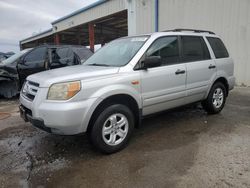
[[[0,52],[18,52],[19,41],[50,29],[51,22],[98,0],[0,0]]]

